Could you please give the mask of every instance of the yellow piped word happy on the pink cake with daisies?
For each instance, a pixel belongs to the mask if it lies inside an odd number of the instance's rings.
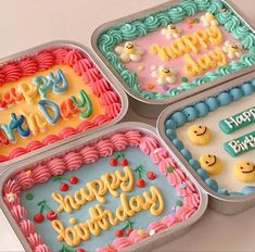
[[[188,52],[199,52],[199,48],[207,49],[207,45],[219,46],[224,37],[218,26],[213,25],[199,29],[193,34],[183,35],[167,46],[153,43],[150,47],[152,54],[157,54],[163,61],[181,56]]]

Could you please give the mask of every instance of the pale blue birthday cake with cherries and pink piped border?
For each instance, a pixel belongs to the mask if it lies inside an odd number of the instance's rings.
[[[166,149],[118,131],[23,168],[3,200],[33,251],[114,252],[195,214],[196,186]]]

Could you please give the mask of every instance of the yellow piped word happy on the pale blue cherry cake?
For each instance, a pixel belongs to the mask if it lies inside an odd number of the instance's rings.
[[[101,179],[94,179],[86,184],[75,191],[74,196],[62,196],[59,192],[52,192],[52,198],[60,203],[58,212],[65,211],[72,213],[73,210],[80,209],[88,201],[97,199],[99,202],[104,203],[104,196],[110,192],[113,197],[118,197],[117,188],[123,191],[131,191],[133,188],[132,169],[125,166],[123,171],[115,171],[115,173],[106,173],[101,176]]]

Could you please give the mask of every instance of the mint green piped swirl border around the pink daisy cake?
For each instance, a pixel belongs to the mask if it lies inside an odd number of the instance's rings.
[[[226,9],[226,11],[224,12],[222,9]],[[132,40],[145,36],[148,33],[155,32],[157,28],[167,26],[169,23],[176,23],[187,16],[195,15],[199,11],[214,13],[217,21],[222,24],[226,30],[231,33],[234,38],[239,39],[248,52],[243,54],[240,61],[231,61],[228,65],[220,66],[213,72],[207,72],[204,76],[192,80],[192,83],[183,83],[176,88],[170,88],[166,93],[143,90],[138,84],[137,74],[127,70],[115,54],[114,48],[125,40]],[[255,64],[254,33],[219,0],[182,0],[179,4],[166,8],[165,10],[106,28],[99,36],[97,43],[99,50],[123,77],[128,87],[145,99],[166,99],[174,97],[180,92]]]

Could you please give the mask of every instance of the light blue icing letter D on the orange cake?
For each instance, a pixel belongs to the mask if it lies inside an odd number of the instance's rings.
[[[38,102],[38,105],[49,123],[55,124],[58,122],[60,117],[60,109],[58,104],[55,104],[53,101],[46,99],[46,100],[40,100]],[[49,106],[53,111],[53,115],[47,110],[47,106]]]

